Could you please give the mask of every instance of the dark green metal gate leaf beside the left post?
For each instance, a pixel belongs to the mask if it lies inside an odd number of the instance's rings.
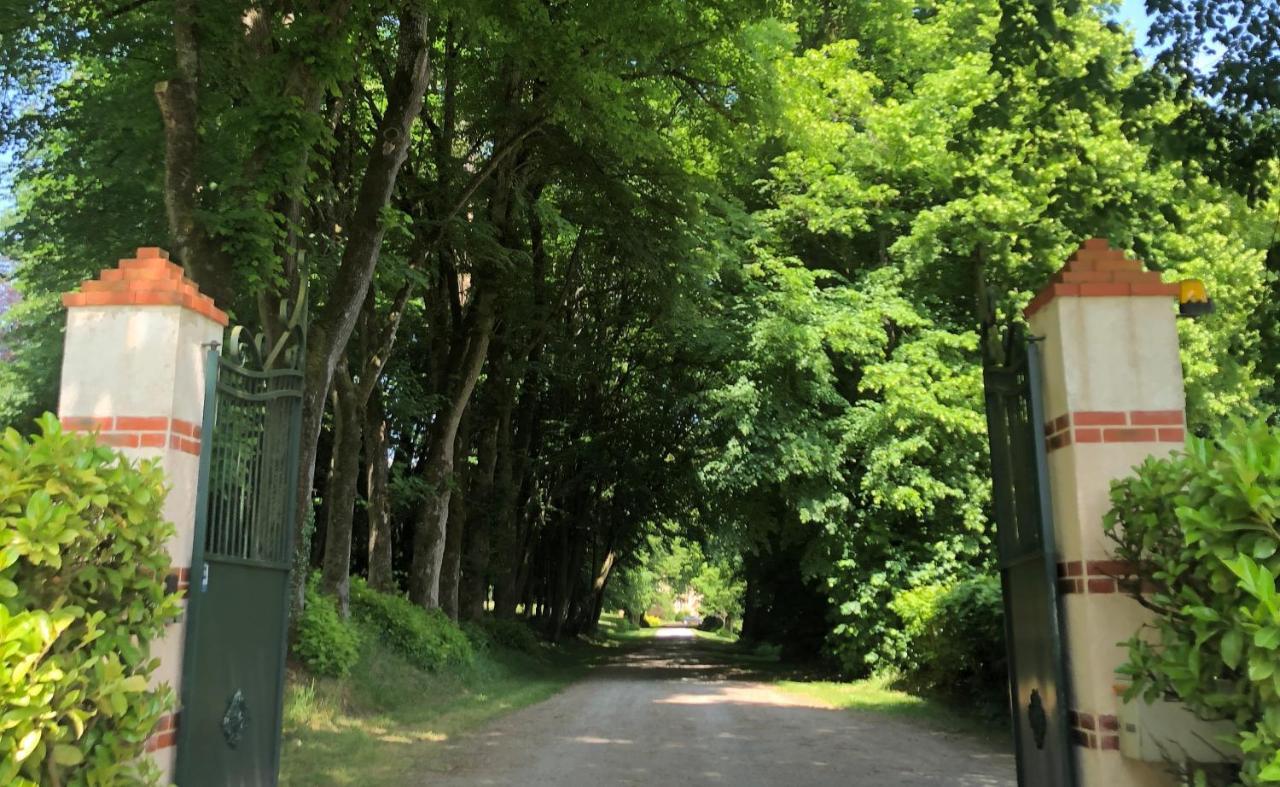
[[[289,369],[236,347],[206,360],[191,560],[180,787],[275,784],[298,443],[301,349]],[[259,369],[252,369],[257,366]]]

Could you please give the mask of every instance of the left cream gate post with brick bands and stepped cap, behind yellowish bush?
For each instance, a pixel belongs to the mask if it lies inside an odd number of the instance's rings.
[[[169,481],[164,516],[177,529],[169,544],[178,589],[188,584],[196,523],[196,476],[205,397],[205,351],[221,342],[228,319],[200,294],[168,252],[138,248],[79,292],[63,296],[67,338],[58,415],[68,430],[97,431],[99,441],[131,459],[152,458]],[[152,683],[177,692],[182,681],[186,616],[152,644],[160,667]],[[147,740],[165,783],[173,779],[178,714]]]

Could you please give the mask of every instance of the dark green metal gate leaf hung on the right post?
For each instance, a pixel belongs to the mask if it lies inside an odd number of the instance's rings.
[[[1018,783],[1071,787],[1039,348],[1021,326],[987,328],[983,381]]]

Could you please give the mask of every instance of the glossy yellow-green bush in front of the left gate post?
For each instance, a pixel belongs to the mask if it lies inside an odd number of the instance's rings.
[[[90,435],[0,439],[0,783],[152,783],[140,758],[173,703],[148,688],[165,592],[164,473]]]

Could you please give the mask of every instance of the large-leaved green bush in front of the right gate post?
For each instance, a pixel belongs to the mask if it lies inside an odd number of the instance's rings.
[[[1235,425],[1220,443],[1193,439],[1112,484],[1111,503],[1115,557],[1137,567],[1155,613],[1155,636],[1129,641],[1126,699],[1176,696],[1230,719],[1239,782],[1280,782],[1280,433]]]

